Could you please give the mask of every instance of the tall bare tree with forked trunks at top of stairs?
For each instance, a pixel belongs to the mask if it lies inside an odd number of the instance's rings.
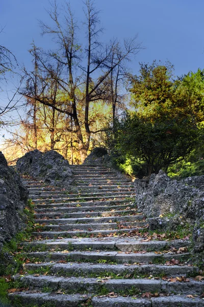
[[[58,45],[58,51],[49,51],[46,57],[49,63],[57,62],[62,67],[61,74],[55,78],[57,78],[61,91],[67,95],[67,103],[58,100],[58,103],[53,104],[43,95],[36,96],[38,102],[71,117],[75,126],[72,131],[77,138],[82,163],[87,157],[91,134],[100,131],[100,129],[93,131],[90,128],[90,103],[103,98],[106,89],[105,81],[117,70],[117,67],[121,67],[123,62],[130,60],[131,56],[136,55],[141,49],[141,45],[137,43],[137,37],[130,40],[125,39],[123,44],[114,40],[103,46],[98,41],[99,34],[103,31],[99,27],[99,12],[93,0],[86,0],[84,4],[86,16],[84,25],[87,35],[87,46],[84,52],[77,40],[78,26],[68,3],[63,8],[64,20],[61,19],[60,9],[55,1],[51,10],[47,11],[55,26],[50,27],[41,22],[42,33],[52,34]],[[38,53],[37,58],[43,69],[51,74],[50,65],[47,64],[45,57]],[[27,91],[24,91],[23,95],[31,98]],[[116,102],[117,98],[113,103],[116,104]],[[79,103],[84,104],[82,123],[79,120]]]

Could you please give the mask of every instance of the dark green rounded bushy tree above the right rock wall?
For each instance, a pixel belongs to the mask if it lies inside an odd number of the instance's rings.
[[[177,116],[152,123],[136,113],[126,113],[115,122],[112,149],[121,156],[145,161],[150,175],[183,160],[197,144],[200,133],[190,117],[181,120]]]

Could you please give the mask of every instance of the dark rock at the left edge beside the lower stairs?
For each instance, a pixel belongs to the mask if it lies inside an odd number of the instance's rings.
[[[0,151],[0,250],[4,242],[24,228],[23,209],[28,194],[19,175],[7,165]]]

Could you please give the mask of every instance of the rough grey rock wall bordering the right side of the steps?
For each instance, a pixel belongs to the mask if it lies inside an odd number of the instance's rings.
[[[194,252],[204,251],[204,176],[181,181],[162,170],[149,180],[135,180],[136,204],[148,218],[152,230],[176,230],[193,226]]]

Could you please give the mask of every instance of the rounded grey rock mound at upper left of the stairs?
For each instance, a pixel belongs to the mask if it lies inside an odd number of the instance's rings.
[[[68,187],[74,183],[69,162],[57,151],[41,152],[33,150],[18,159],[16,169],[19,173],[41,179],[46,184]]]

